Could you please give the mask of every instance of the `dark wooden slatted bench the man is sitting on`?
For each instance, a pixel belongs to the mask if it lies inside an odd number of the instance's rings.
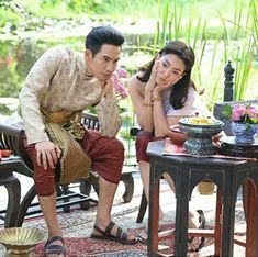
[[[99,130],[99,121],[96,115],[85,113],[82,116],[82,123],[89,130]],[[33,167],[23,146],[24,135],[24,130],[0,124],[0,147],[11,149],[13,155],[21,158],[22,161],[19,168],[15,170],[16,172],[33,178]],[[125,192],[123,194],[123,199],[125,202],[130,202],[133,198],[134,180],[132,171],[134,170],[128,167],[124,167],[123,174],[121,176],[121,181],[123,181],[125,185]],[[98,180],[98,175],[93,170],[91,170],[90,177],[88,179],[75,181],[79,182],[80,192],[74,192],[70,190],[69,185],[59,185],[57,178],[57,209],[63,208],[65,212],[69,212],[71,205],[80,204],[80,208],[82,210],[88,210],[91,202],[94,204],[98,202],[97,200],[90,198],[91,186],[96,190],[97,194],[99,193]],[[16,219],[16,226],[22,225],[26,215],[32,215],[41,212],[38,208],[36,209],[38,203],[32,203],[35,195],[35,187],[33,185],[21,201],[19,216]],[[4,212],[5,210],[2,210],[0,211],[0,214]]]

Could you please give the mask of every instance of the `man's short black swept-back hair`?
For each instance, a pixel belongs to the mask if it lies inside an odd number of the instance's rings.
[[[91,51],[93,57],[103,44],[121,46],[123,43],[122,33],[109,25],[93,27],[86,36],[86,48]]]

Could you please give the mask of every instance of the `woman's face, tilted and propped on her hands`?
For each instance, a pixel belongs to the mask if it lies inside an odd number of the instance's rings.
[[[157,85],[175,85],[183,76],[186,65],[177,55],[162,55],[158,62]]]

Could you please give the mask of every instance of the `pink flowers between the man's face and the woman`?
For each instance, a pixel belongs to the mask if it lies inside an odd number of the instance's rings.
[[[113,74],[114,92],[117,100],[125,99],[128,97],[124,88],[124,80],[127,78],[127,76],[128,74],[125,69],[116,69]]]

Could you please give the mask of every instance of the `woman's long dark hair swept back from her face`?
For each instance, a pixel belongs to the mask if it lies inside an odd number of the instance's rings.
[[[183,107],[183,103],[187,101],[189,87],[193,87],[195,89],[193,82],[191,81],[191,71],[194,65],[195,57],[192,48],[190,46],[187,46],[186,43],[183,43],[182,41],[168,42],[157,55],[162,56],[167,54],[177,55],[186,66],[183,77],[173,85],[171,94],[169,97],[170,104],[173,107],[175,110],[177,110],[181,109]],[[152,74],[152,68],[155,64],[155,58],[147,65],[139,68],[139,71],[142,71],[141,75],[137,76],[137,79],[139,81],[148,81]]]

